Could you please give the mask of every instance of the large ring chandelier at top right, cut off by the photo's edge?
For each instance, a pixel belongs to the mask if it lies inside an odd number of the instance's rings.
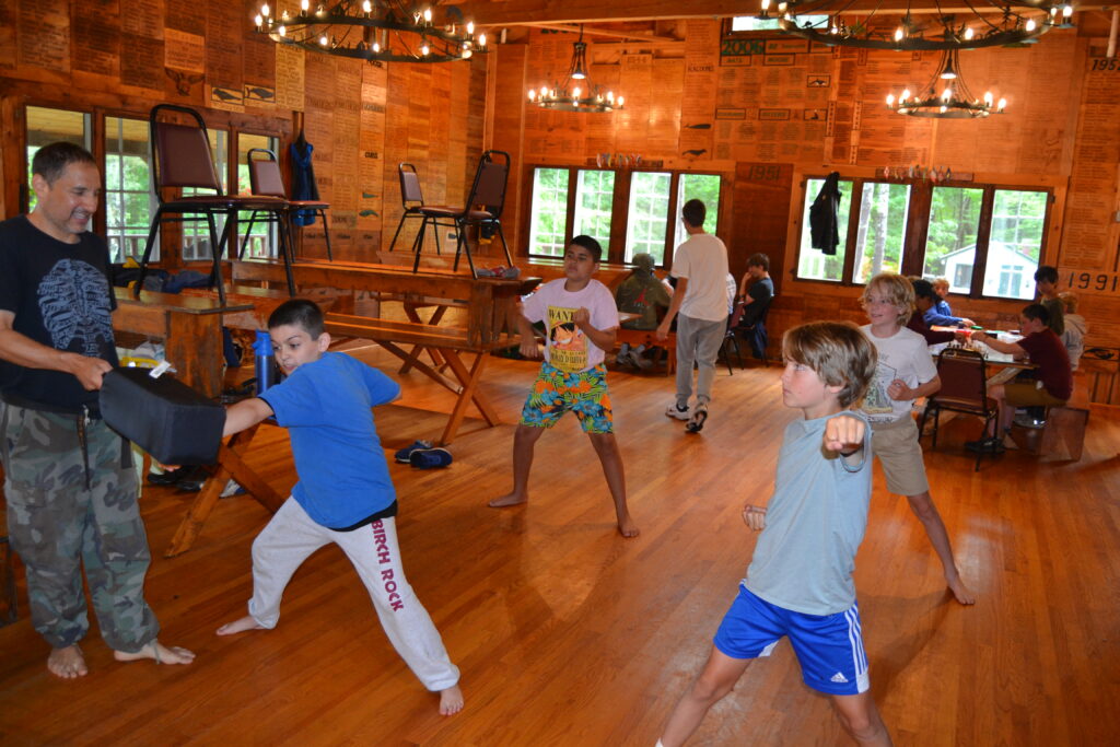
[[[1073,6],[1066,0],[987,0],[983,8],[965,2],[972,11],[956,22],[942,16],[935,25],[940,38],[925,36],[923,18],[905,13],[897,20],[879,9],[852,11],[851,0],[787,0],[771,15],[771,0],[760,0],[758,18],[776,19],[778,29],[818,44],[865,49],[978,49],[1033,44],[1053,28],[1072,28]],[[940,7],[940,6],[939,6]],[[896,11],[889,11],[896,12]]]

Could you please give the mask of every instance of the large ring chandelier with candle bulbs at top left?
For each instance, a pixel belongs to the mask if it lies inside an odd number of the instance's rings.
[[[433,20],[437,11],[441,19]],[[444,0],[300,0],[299,12],[279,17],[265,1],[253,19],[256,30],[278,44],[370,62],[446,63],[486,52],[486,35],[475,34],[457,6]]]

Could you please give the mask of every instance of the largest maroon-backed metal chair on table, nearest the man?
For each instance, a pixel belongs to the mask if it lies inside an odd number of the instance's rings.
[[[171,113],[186,115],[189,123],[180,124],[164,119]],[[225,302],[225,288],[222,283],[222,250],[236,220],[239,211],[264,211],[282,215],[287,209],[287,200],[279,197],[251,197],[246,195],[226,195],[222,189],[211,156],[209,136],[206,122],[202,115],[188,106],[177,104],[157,104],[148,115],[148,127],[152,149],[151,179],[156,188],[156,199],[159,206],[151,218],[151,230],[144,244],[143,256],[140,260],[140,274],[137,278],[133,295],[140,297],[143,278],[148,272],[148,261],[156,245],[156,234],[165,221],[185,223],[206,221],[209,227],[209,245],[213,256],[211,284],[217,283],[218,299]],[[213,194],[184,196],[184,188],[211,189]],[[165,193],[174,195],[165,199]],[[174,216],[174,217],[172,217]],[[218,237],[215,218],[225,216],[226,223]],[[282,235],[282,234],[281,234]],[[281,246],[286,252],[287,246]]]

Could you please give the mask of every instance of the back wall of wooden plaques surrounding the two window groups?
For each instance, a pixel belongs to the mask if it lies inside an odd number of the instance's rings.
[[[787,248],[797,234],[790,224],[800,222],[802,186],[791,170],[870,176],[921,165],[964,179],[1046,186],[1064,209],[1051,221],[1044,261],[1083,297],[1091,340],[1120,345],[1120,62],[1091,56],[1090,41],[1070,30],[1029,47],[970,50],[961,55],[970,87],[1007,97],[1007,113],[915,119],[888,111],[885,97],[902,83],[923,85],[940,53],[833,49],[780,36],[728,43],[708,20],[682,22],[679,36],[683,41],[592,40],[591,78],[624,94],[625,109],[548,112],[525,99],[525,164],[594,165],[600,153],[633,162],[637,155],[645,164],[732,177],[734,218],[721,223],[732,271],[740,273],[758,248],[771,252],[784,271],[775,278],[785,296],[775,307],[783,328],[819,318],[816,310],[836,309],[837,300],[851,307],[841,316],[861,316],[847,300],[853,289],[792,279],[796,258]],[[503,72],[496,84],[524,92],[562,80],[575,39],[534,31],[523,80]],[[757,212],[766,217],[746,217]],[[1014,324],[1018,306],[978,301],[969,310],[984,323]]]

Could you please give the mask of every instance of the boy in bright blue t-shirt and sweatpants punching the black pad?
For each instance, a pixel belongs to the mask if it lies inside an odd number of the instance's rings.
[[[423,685],[439,692],[439,712],[463,708],[459,670],[439,632],[404,578],[396,544],[396,494],[371,408],[400,396],[389,376],[342,353],[327,353],[323,312],[304,299],[286,301],[269,317],[277,363],[288,375],[260,396],[231,407],[225,436],[276,415],[291,436],[299,482],[253,541],[253,598],[249,615],[218,635],[269,629],[296,569],[334,542],[370,591],[393,648]]]

